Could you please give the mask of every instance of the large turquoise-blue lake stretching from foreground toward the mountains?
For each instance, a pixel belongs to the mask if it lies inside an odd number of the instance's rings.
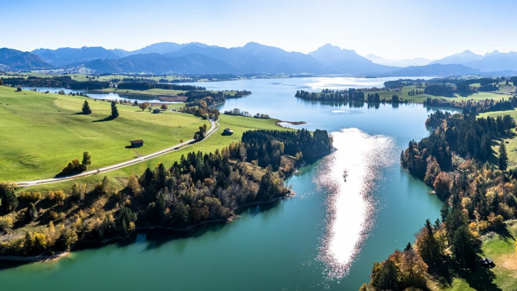
[[[52,290],[357,290],[374,261],[413,242],[425,219],[440,215],[431,188],[403,170],[400,152],[429,134],[433,110],[325,104],[294,97],[382,86],[398,78],[256,79],[204,83],[209,90],[250,90],[220,110],[266,113],[293,126],[326,129],[337,151],[287,179],[296,196],[242,210],[227,224],[188,236],[150,232],[134,242],[0,271],[3,289]],[[199,83],[195,83],[198,84]],[[221,145],[223,146],[223,145]]]

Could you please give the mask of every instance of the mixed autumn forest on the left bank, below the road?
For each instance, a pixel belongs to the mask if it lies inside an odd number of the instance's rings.
[[[130,176],[121,191],[113,190],[106,177],[92,191],[86,185],[73,184],[65,191],[22,192],[16,185],[0,184],[0,211],[18,212],[0,221],[0,231],[23,227],[29,222],[48,224],[44,232],[26,231],[24,236],[0,242],[0,255],[55,255],[91,244],[125,239],[137,230],[163,228],[189,230],[210,222],[227,221],[235,211],[254,203],[275,201],[293,195],[284,178],[307,158],[330,153],[332,137],[325,130],[310,133],[305,129],[253,130],[245,132],[240,142],[213,153],[190,152],[166,167],[159,163],[141,176]],[[104,195],[118,205],[118,211],[93,219],[92,203]],[[39,213],[44,203],[49,208]],[[51,207],[48,207],[51,205]],[[64,213],[74,209],[73,215]],[[54,222],[63,222],[55,229]]]

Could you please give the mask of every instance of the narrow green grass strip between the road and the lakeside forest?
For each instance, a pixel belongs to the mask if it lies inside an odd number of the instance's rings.
[[[284,129],[284,130],[293,130],[290,128],[279,127],[275,124],[276,119],[255,119],[250,117],[240,117],[240,116],[231,116],[231,115],[220,115],[220,128],[212,134],[206,140],[194,144],[194,146],[186,147],[179,151],[171,152],[166,155],[162,155],[156,157],[154,159],[149,159],[140,164],[136,164],[133,166],[129,166],[126,168],[122,168],[116,171],[111,171],[105,173],[105,176],[108,176],[112,181],[114,187],[122,187],[125,183],[127,177],[130,174],[135,174],[140,176],[144,170],[149,168],[155,168],[159,162],[164,163],[166,166],[172,165],[175,161],[179,161],[181,155],[187,154],[192,151],[202,151],[202,152],[214,152],[217,149],[221,149],[223,147],[228,146],[232,141],[239,141],[242,137],[242,133],[247,130],[252,129]],[[229,127],[234,130],[233,135],[231,136],[223,136],[221,135],[223,129]],[[81,179],[73,180],[73,181],[65,181],[54,184],[47,185],[36,185],[32,187],[26,188],[26,190],[30,191],[47,191],[47,190],[65,190],[69,191],[70,187],[73,183],[85,183],[89,188],[92,188],[96,183],[104,178],[104,174],[88,176]]]

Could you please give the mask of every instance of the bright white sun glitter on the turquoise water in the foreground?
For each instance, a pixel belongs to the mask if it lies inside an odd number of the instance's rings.
[[[325,158],[315,176],[330,195],[320,259],[331,278],[343,277],[374,223],[373,188],[381,170],[396,161],[390,137],[371,136],[357,128],[332,133],[336,152]],[[376,183],[377,182],[377,183]]]

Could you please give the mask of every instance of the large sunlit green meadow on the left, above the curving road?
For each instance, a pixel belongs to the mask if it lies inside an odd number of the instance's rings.
[[[89,99],[93,113],[78,114],[84,100],[0,86],[0,181],[53,177],[83,151],[92,155],[90,169],[124,162],[189,140],[207,123],[191,114],[152,114],[126,105],[117,105],[117,119],[96,122],[110,115],[110,103]],[[134,139],[143,139],[144,147],[126,149]]]

